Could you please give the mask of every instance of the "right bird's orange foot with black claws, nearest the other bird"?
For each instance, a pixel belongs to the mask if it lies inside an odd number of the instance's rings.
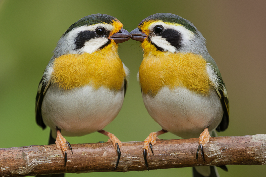
[[[153,155],[153,150],[152,150],[152,145],[156,144],[156,140],[160,140],[157,136],[167,133],[168,131],[161,129],[158,132],[152,132],[151,134],[149,134],[149,136],[145,139],[144,141],[144,145],[143,145],[143,157],[144,157],[144,161],[145,161],[145,165],[146,165],[146,169],[149,171],[148,168],[148,162],[147,162],[147,150],[150,147],[151,148],[151,152]]]

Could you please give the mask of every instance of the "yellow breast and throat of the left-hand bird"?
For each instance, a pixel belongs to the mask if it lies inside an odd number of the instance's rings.
[[[62,55],[53,63],[51,81],[66,90],[92,85],[119,91],[126,73],[116,51],[117,46],[109,45],[92,54]]]

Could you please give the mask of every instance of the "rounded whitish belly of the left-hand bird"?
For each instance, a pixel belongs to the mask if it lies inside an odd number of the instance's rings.
[[[64,91],[51,86],[44,96],[41,113],[54,138],[56,127],[63,136],[82,136],[101,130],[114,120],[123,100],[124,90],[84,86]]]

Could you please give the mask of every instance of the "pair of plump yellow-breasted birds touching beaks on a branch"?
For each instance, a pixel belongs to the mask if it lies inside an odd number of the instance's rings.
[[[66,166],[67,149],[72,148],[62,135],[98,131],[113,143],[117,168],[122,144],[103,128],[119,113],[127,88],[129,71],[118,56],[118,43],[132,38],[142,42],[144,51],[137,76],[144,104],[163,128],[144,141],[147,169],[147,150],[168,131],[200,137],[197,158],[200,150],[204,160],[204,144],[215,129],[228,127],[229,116],[226,87],[205,38],[190,21],[167,13],[147,17],[130,33],[122,27],[113,16],[93,14],[61,36],[36,96],[36,121],[51,128],[49,144],[62,150]],[[219,176],[213,166],[193,167],[193,174]]]

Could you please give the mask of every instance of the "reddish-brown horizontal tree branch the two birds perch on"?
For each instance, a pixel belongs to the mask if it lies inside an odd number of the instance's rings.
[[[64,156],[56,145],[33,145],[0,149],[0,176],[31,176],[52,173],[113,171],[117,154],[111,143],[72,144]],[[121,159],[115,171],[146,170],[143,141],[122,142]],[[204,165],[266,164],[266,134],[211,137],[204,145],[205,161],[196,160],[198,139],[157,140],[154,156],[148,150],[149,169],[168,169]]]

